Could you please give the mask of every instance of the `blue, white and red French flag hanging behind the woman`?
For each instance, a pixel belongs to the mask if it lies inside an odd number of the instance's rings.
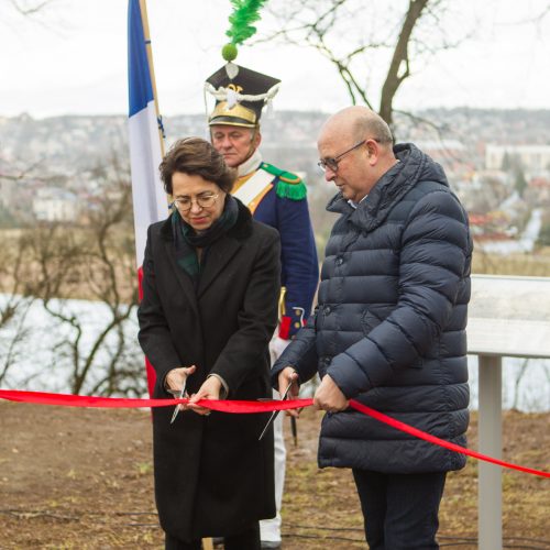
[[[141,277],[147,228],[167,217],[167,198],[163,190],[158,165],[163,156],[162,132],[153,94],[152,67],[147,57],[150,44],[145,0],[130,0],[128,6],[128,85],[130,167],[134,210],[135,255]],[[155,371],[146,363],[147,386],[153,395]]]

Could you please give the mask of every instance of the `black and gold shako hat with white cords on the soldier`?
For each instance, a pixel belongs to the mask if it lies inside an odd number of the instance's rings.
[[[208,124],[256,128],[262,109],[277,94],[280,80],[234,63],[227,63],[205,82],[216,98]]]

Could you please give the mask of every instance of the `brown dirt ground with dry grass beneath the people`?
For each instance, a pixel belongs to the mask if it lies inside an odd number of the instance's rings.
[[[550,470],[549,420],[506,413],[504,460]],[[305,410],[298,447],[287,441],[283,548],[365,548],[350,472],[317,469],[319,421]],[[148,411],[0,402],[0,549],[163,548]],[[476,548],[476,472],[470,460],[448,479],[442,547]],[[505,471],[503,487],[505,548],[549,549],[550,481]]]

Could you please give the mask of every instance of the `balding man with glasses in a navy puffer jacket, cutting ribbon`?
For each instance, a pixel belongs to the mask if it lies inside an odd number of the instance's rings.
[[[439,548],[446,474],[465,458],[348,408],[349,399],[453,443],[469,422],[468,216],[437,163],[392,146],[387,124],[351,107],[323,125],[319,165],[339,194],[318,307],[273,366],[274,387],[317,372],[328,411],[319,465],[351,468],[371,549]],[[290,388],[297,395],[298,384]]]

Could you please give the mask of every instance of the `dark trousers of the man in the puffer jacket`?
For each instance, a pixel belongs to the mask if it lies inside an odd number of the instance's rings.
[[[438,549],[446,472],[383,474],[353,470],[371,550]]]

